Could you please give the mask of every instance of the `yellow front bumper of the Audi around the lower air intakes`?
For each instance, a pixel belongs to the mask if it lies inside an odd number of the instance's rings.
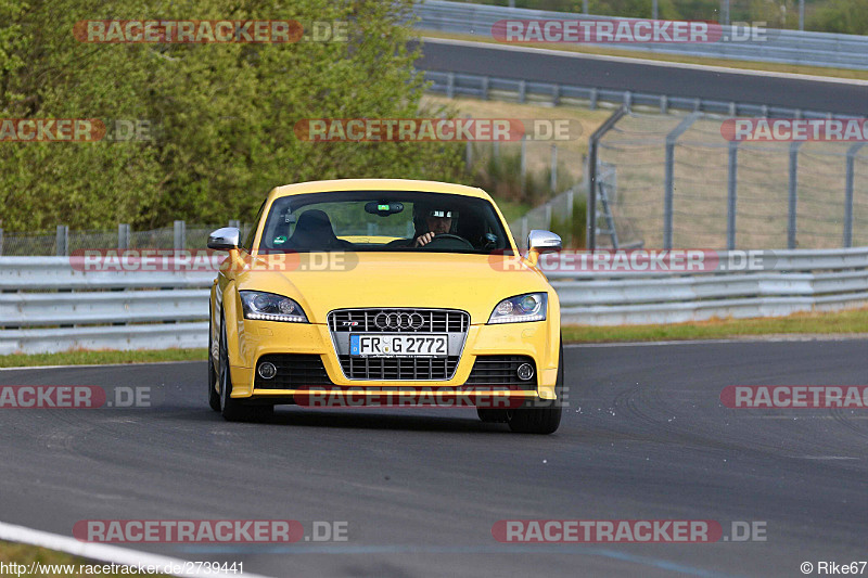
[[[270,354],[318,355],[333,386],[353,388],[354,391],[370,390],[372,395],[412,395],[432,388],[460,388],[465,384],[478,356],[520,355],[534,359],[536,375],[523,390],[505,391],[503,395],[525,399],[551,400],[556,398],[558,377],[560,327],[550,321],[529,323],[505,323],[495,325],[470,325],[464,348],[455,375],[447,381],[359,381],[348,380],[341,370],[331,332],[326,324],[279,323],[272,321],[243,320],[238,324],[238,356],[230,355],[233,398],[272,399],[286,402],[297,395],[320,391],[322,387],[296,389],[255,388],[257,360]],[[395,389],[388,389],[395,387]]]

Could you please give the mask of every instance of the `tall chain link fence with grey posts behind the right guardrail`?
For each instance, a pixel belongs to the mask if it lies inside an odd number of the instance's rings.
[[[868,245],[868,147],[732,143],[724,120],[635,112],[618,120],[599,141],[598,246]],[[607,234],[608,217],[616,236]]]

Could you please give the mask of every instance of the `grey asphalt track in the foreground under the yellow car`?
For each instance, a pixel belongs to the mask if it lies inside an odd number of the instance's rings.
[[[289,576],[802,576],[868,558],[866,410],[733,410],[727,385],[868,383],[864,341],[570,347],[559,432],[467,409],[280,409],[227,423],[205,363],[0,371],[159,388],[157,408],[2,410],[0,521],[346,521],[348,541],[127,544]],[[159,396],[157,396],[159,397]],[[495,522],[762,521],[764,542],[501,544]]]

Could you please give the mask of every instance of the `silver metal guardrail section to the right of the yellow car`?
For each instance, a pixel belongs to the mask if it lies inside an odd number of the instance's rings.
[[[741,252],[732,254],[743,255]],[[722,252],[720,255],[728,255]],[[752,273],[570,271],[548,273],[565,324],[682,323],[717,318],[781,317],[864,306],[868,248],[768,252]],[[808,272],[810,271],[810,272]]]

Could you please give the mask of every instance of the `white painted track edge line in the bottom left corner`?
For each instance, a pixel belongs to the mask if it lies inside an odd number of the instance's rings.
[[[114,562],[115,564],[122,564],[126,566],[138,566],[139,564],[144,564],[165,568],[167,565],[171,564],[181,565],[183,568],[183,564],[189,562],[181,558],[150,554],[148,552],[140,552],[138,550],[120,548],[113,544],[79,542],[75,538],[69,538],[67,536],[35,530],[25,526],[7,524],[5,522],[0,522],[0,540],[38,545],[89,560]],[[43,566],[46,565],[48,564],[43,564]],[[171,576],[242,576],[225,571],[216,573],[213,570],[210,573],[205,573],[202,570],[202,568],[200,568],[197,571],[193,569],[192,571],[188,573],[168,574]],[[268,578],[248,571],[245,571],[243,576],[244,578]]]

